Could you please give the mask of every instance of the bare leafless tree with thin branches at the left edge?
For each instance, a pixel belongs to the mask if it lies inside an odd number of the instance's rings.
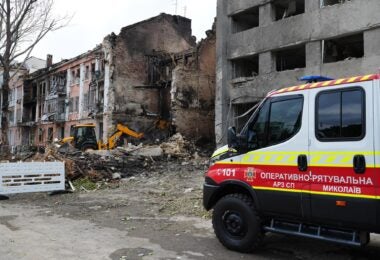
[[[53,16],[54,0],[0,0],[0,65],[3,73],[1,141],[8,144],[9,81],[47,33],[62,28],[68,17]],[[23,62],[16,64],[17,59]]]

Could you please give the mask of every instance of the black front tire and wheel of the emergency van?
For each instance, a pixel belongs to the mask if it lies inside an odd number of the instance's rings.
[[[244,194],[229,194],[221,198],[214,207],[212,225],[218,240],[234,251],[252,252],[264,238],[253,201]]]

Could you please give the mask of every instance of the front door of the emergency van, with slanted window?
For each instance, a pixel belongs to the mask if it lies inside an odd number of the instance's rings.
[[[249,131],[253,151],[242,158],[253,175],[260,208],[267,214],[304,217],[310,212],[307,191],[308,92],[276,95],[263,105]],[[253,174],[252,174],[253,173]]]

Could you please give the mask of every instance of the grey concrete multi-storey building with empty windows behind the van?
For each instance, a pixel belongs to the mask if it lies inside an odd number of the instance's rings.
[[[216,141],[270,90],[380,67],[378,0],[218,0]]]

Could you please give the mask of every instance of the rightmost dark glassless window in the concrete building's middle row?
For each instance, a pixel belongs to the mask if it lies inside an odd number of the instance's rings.
[[[364,56],[363,33],[324,40],[323,63],[361,58]]]

